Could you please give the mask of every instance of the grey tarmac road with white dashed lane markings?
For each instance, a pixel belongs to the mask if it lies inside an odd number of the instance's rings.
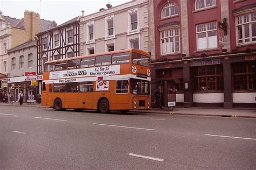
[[[255,169],[250,118],[1,106],[1,169]]]

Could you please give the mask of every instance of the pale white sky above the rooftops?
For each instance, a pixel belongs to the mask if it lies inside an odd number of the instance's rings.
[[[90,15],[105,8],[106,4],[117,6],[131,0],[0,0],[0,10],[4,16],[22,19],[24,11],[35,11],[41,19],[55,20],[58,25],[67,22],[77,16]]]

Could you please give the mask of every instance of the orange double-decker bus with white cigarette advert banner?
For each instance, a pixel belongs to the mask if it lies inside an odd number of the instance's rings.
[[[150,80],[150,54],[140,49],[47,61],[41,105],[102,113],[150,109]]]

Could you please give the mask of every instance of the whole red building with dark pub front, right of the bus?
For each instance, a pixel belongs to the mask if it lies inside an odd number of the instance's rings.
[[[153,80],[177,105],[256,107],[256,3],[155,0]],[[152,97],[153,98],[153,97]]]

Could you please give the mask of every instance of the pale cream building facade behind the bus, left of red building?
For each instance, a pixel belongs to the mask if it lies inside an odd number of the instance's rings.
[[[80,55],[138,48],[150,52],[147,0],[80,17]]]

